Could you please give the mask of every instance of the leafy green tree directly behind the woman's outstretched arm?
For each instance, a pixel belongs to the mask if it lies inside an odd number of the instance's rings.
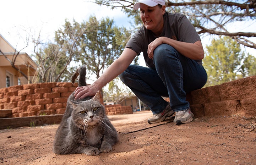
[[[98,21],[96,17],[90,17],[85,26],[87,32],[80,39],[78,59],[87,65],[88,72],[99,78],[104,69],[120,56],[130,33],[126,28],[114,26],[114,21],[109,18]]]

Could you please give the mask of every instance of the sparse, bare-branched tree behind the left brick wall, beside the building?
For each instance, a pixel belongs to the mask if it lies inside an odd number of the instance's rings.
[[[73,27],[72,27],[73,26]],[[74,28],[74,27],[79,28]],[[59,82],[62,73],[69,66],[72,58],[77,54],[78,40],[85,33],[86,27],[74,21],[71,25],[66,20],[63,25],[64,29],[55,32],[55,43],[43,43],[38,38],[33,39],[34,53],[38,64],[38,81],[39,82]]]

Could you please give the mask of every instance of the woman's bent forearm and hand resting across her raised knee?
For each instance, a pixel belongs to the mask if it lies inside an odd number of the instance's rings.
[[[202,60],[204,57],[203,46],[200,40],[195,43],[185,43],[167,37],[159,37],[148,45],[148,57],[150,59],[153,59],[153,51],[161,44],[173,46],[180,54],[192,60]]]

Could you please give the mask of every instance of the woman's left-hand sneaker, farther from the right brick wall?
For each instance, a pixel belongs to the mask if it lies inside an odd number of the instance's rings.
[[[174,111],[171,109],[170,104],[166,106],[163,112],[159,114],[154,114],[150,119],[148,119],[148,123],[159,123],[164,121],[167,117],[174,114]]]

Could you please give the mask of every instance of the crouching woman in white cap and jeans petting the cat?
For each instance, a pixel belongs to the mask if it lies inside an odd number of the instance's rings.
[[[202,88],[207,81],[199,35],[184,15],[165,12],[165,0],[140,0],[133,8],[140,8],[143,26],[102,76],[92,85],[75,90],[75,99],[96,94],[120,75],[153,112],[148,123],[164,121],[174,112],[176,125],[192,121],[186,92]],[[130,65],[141,52],[148,67]],[[162,96],[169,97],[170,103]]]

